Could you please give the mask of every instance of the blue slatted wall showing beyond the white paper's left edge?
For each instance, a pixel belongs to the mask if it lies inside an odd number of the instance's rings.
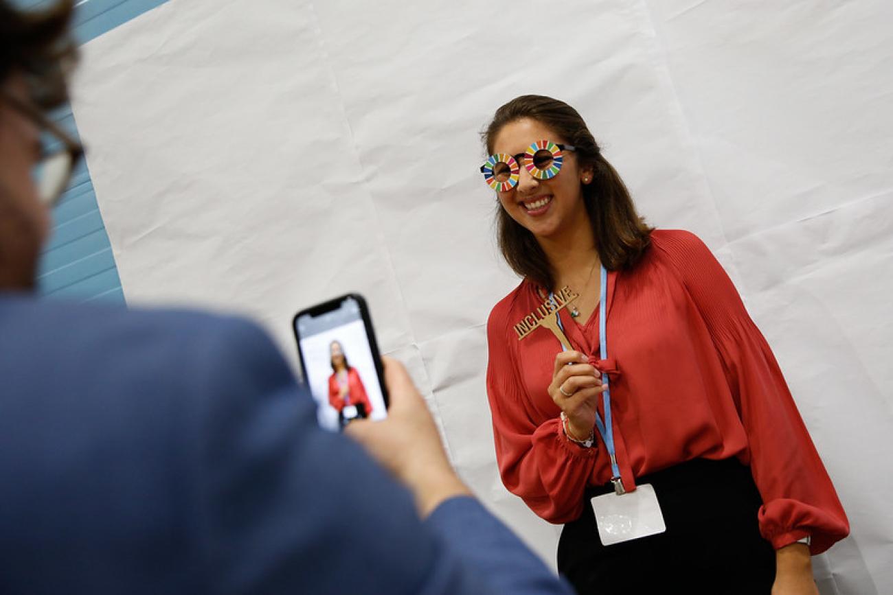
[[[149,11],[167,0],[79,0],[75,5],[74,35],[80,44]],[[36,9],[52,0],[18,0]],[[71,106],[53,114],[72,136],[78,136]],[[89,151],[89,147],[88,147]],[[62,202],[53,212],[54,228],[38,265],[38,292],[81,301],[124,302],[112,246],[96,204],[96,192],[85,164],[71,179]]]

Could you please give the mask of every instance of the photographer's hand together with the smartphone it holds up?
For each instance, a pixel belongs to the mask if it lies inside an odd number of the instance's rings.
[[[450,466],[434,419],[406,369],[393,359],[387,371],[382,366],[362,296],[350,293],[301,310],[292,326],[322,427],[344,430],[360,442],[413,492],[421,516],[444,500],[471,495]],[[386,386],[394,393],[393,415],[388,415]],[[380,424],[355,423],[385,417]]]

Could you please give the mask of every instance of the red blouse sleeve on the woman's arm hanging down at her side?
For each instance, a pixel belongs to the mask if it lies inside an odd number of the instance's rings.
[[[664,232],[655,247],[678,270],[722,359],[750,467],[763,497],[760,532],[775,549],[812,535],[819,554],[849,533],[840,505],[769,344],[720,263],[697,236]]]

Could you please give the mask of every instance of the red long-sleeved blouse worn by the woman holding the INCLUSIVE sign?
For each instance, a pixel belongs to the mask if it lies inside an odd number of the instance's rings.
[[[608,359],[598,359],[597,309],[583,325],[560,313],[573,346],[611,381],[624,485],[690,459],[737,457],[763,497],[764,538],[779,549],[810,534],[813,554],[827,550],[849,533],[847,516],[768,343],[697,236],[655,230],[651,241],[633,269],[608,273]],[[514,326],[541,303],[524,280],[490,312],[487,393],[505,487],[567,523],[611,465],[600,439],[583,449],[562,432],[547,393],[555,335],[538,328],[518,340]]]

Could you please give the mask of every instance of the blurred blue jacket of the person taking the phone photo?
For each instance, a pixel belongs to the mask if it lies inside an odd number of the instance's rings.
[[[420,521],[252,324],[0,294],[0,592],[571,591],[472,498]]]

